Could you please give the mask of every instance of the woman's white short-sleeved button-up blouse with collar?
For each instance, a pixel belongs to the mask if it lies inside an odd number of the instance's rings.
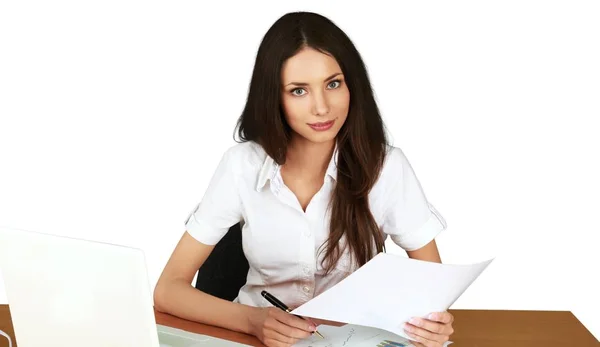
[[[318,252],[329,235],[327,205],[336,180],[336,159],[334,152],[324,184],[304,212],[284,184],[279,165],[260,145],[245,142],[225,152],[185,224],[196,240],[215,245],[231,226],[242,223],[242,245],[250,269],[235,302],[271,306],[260,294],[266,290],[295,308],[356,270],[346,251],[325,275],[321,266],[324,252]],[[397,147],[388,147],[369,204],[384,238],[390,235],[408,251],[425,246],[446,229],[445,220],[428,203],[411,165]]]

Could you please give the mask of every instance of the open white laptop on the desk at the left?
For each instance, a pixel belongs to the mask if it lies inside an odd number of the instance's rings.
[[[157,325],[140,249],[0,228],[17,345],[247,346]]]

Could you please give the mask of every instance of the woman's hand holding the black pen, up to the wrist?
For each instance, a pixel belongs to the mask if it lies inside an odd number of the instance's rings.
[[[309,337],[316,326],[275,307],[256,308],[250,317],[251,334],[268,347],[288,347]]]

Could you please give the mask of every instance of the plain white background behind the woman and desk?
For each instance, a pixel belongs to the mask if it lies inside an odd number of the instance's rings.
[[[154,285],[293,10],[361,52],[443,261],[496,257],[453,308],[570,310],[600,337],[594,1],[5,1],[0,225],[142,248]]]

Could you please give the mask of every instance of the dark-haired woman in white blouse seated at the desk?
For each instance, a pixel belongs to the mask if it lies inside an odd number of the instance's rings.
[[[434,237],[445,222],[387,144],[360,55],[327,18],[288,13],[267,31],[238,134],[157,283],[159,311],[290,346],[324,321],[274,308],[262,290],[298,307],[381,252],[387,235],[409,257],[440,262]],[[239,222],[250,269],[229,302],[190,283]],[[429,318],[407,333],[441,346],[453,317]]]

